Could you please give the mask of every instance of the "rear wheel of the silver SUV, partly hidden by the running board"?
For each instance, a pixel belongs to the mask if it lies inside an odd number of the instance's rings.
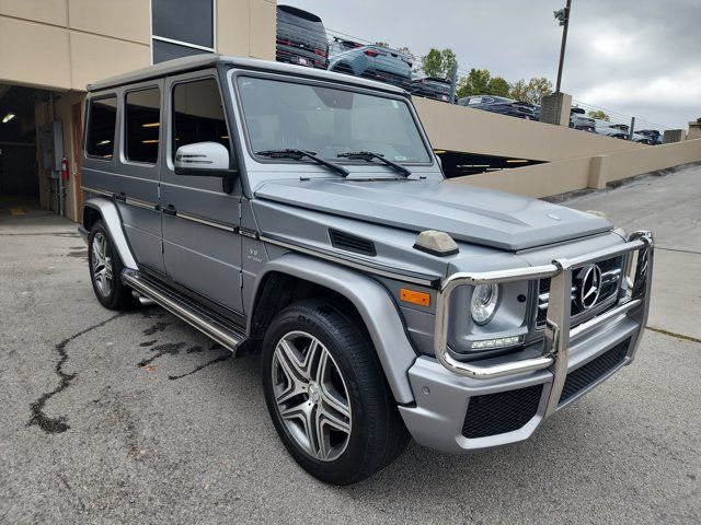
[[[124,265],[102,221],[96,221],[88,235],[88,267],[92,289],[105,308],[124,310],[136,304],[131,289],[119,279]]]

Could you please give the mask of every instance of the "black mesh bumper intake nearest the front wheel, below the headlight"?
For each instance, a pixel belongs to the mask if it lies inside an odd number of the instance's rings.
[[[466,438],[504,434],[524,427],[538,411],[543,385],[470,398],[462,423]]]

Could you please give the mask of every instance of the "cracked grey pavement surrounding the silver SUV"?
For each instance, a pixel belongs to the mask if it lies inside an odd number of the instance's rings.
[[[76,224],[0,210],[1,523],[699,523],[701,167],[577,197],[657,233],[633,366],[527,443],[415,443],[347,488],[288,457],[256,357],[159,307],[102,308]],[[696,269],[696,270],[694,270]]]

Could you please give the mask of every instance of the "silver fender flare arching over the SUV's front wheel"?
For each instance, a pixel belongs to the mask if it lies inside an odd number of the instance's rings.
[[[392,298],[379,282],[360,272],[299,254],[285,254],[265,265],[253,290],[254,312],[261,283],[269,272],[286,273],[333,290],[349,300],[363,318],[384,371],[394,399],[399,404],[414,401],[409,383],[409,369],[416,360],[401,314]],[[249,316],[249,332],[251,320]]]

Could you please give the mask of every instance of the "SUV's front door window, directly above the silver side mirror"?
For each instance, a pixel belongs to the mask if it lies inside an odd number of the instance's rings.
[[[215,79],[176,84],[173,89],[173,160],[181,145],[219,142],[229,150],[229,131]]]

